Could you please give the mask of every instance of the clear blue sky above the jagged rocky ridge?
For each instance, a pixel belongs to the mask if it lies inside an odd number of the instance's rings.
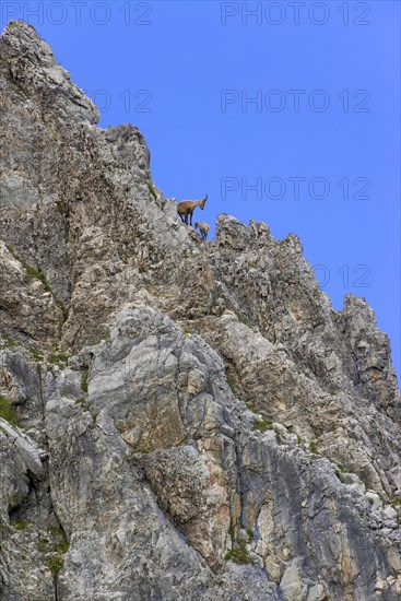
[[[400,369],[400,2],[2,0],[166,197],[299,235],[333,306],[365,296]],[[253,102],[251,102],[253,99]],[[294,179],[302,178],[302,179]],[[319,178],[319,179],[316,179]],[[251,189],[251,187],[256,189]]]

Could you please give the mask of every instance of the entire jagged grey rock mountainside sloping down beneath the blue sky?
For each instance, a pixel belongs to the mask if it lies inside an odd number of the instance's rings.
[[[132,126],[0,39],[0,597],[401,594],[400,397],[295,235],[203,244]]]

